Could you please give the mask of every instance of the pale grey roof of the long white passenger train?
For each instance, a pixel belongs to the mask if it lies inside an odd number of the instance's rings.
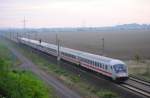
[[[39,43],[39,41],[37,41],[37,40],[32,40],[32,39],[28,39],[28,38],[21,38],[21,39],[25,40],[25,41],[30,41],[30,42],[35,43],[37,45],[42,45],[42,46],[47,47],[47,48],[57,49],[57,46],[54,44],[50,44],[50,43],[46,43],[46,42]],[[122,61],[117,60],[117,59],[113,59],[113,58],[109,58],[109,57],[105,57],[105,56],[100,56],[100,55],[96,55],[96,54],[91,54],[91,53],[83,52],[80,50],[74,50],[74,49],[70,49],[70,48],[66,48],[66,47],[60,47],[60,49],[62,52],[66,52],[66,53],[69,53],[72,55],[83,57],[85,59],[94,60],[97,62],[101,61],[104,63],[109,63],[111,65],[118,64],[118,63],[124,64]]]

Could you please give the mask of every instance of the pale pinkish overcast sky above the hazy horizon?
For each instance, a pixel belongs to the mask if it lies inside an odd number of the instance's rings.
[[[150,23],[150,0],[0,0],[0,28]]]

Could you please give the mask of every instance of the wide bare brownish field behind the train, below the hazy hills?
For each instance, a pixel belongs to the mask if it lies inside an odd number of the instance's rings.
[[[42,32],[30,37],[55,44],[56,33],[61,39],[61,45],[68,48],[101,55],[104,38],[104,55],[108,57],[129,60],[139,55],[143,59],[150,59],[150,30]]]

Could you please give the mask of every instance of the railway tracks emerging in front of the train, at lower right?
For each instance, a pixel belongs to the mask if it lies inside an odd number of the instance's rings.
[[[129,80],[127,80],[126,82],[120,85],[133,92],[136,92],[138,94],[144,95],[147,98],[150,98],[150,83],[149,82],[130,76]]]

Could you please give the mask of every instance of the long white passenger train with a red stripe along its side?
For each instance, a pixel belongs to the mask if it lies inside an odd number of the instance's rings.
[[[58,47],[54,44],[24,37],[20,37],[19,42],[53,56],[58,54]],[[123,61],[66,47],[60,47],[59,51],[60,58],[65,61],[93,70],[115,81],[125,81],[128,79],[128,67]]]

